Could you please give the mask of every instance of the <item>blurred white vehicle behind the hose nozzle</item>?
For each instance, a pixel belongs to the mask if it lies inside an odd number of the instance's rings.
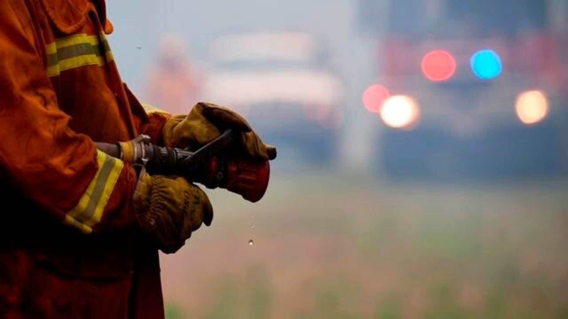
[[[210,48],[210,100],[235,108],[284,158],[329,163],[337,152],[342,85],[327,48],[307,32],[222,36]]]

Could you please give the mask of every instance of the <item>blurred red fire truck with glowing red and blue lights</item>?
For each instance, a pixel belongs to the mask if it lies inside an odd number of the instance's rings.
[[[367,104],[386,100],[371,110],[391,128],[381,132],[383,173],[446,180],[568,173],[565,36],[554,24],[567,12],[555,2],[397,0],[386,4],[387,22],[369,18],[369,27],[386,28],[378,41],[383,86],[367,91]],[[407,98],[389,99],[397,95]]]

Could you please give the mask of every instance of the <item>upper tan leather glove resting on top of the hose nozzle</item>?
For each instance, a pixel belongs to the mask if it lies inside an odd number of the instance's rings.
[[[187,116],[169,119],[162,129],[162,139],[165,146],[195,150],[229,128],[241,132],[239,152],[245,156],[264,161],[276,158],[276,148],[262,142],[247,120],[226,107],[212,103],[197,103]]]

